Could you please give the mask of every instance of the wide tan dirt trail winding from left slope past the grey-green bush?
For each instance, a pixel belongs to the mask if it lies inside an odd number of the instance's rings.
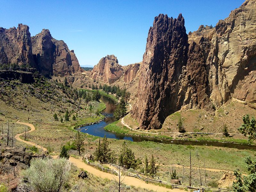
[[[28,131],[27,133],[29,132],[32,132],[32,131],[35,131],[35,126],[33,124],[30,124],[30,123],[23,123],[23,122],[20,122],[17,121],[16,123],[18,124],[23,124],[23,125],[27,125],[31,128],[30,131]],[[25,141],[25,140],[22,140],[20,139],[20,135],[23,135],[25,134],[25,132],[23,133],[19,133],[17,135],[15,135],[15,139],[21,141],[21,142],[24,142],[24,143],[27,143],[29,145],[35,145],[37,148],[42,148],[42,150],[44,151],[47,151],[46,148],[40,146],[40,145],[37,145],[36,143],[34,142],[31,142],[31,141]],[[56,156],[52,156],[53,158],[56,158]],[[90,165],[87,165],[85,164],[81,158],[80,159],[76,159],[74,157],[69,157],[69,161],[73,164],[75,164],[78,168],[80,169],[84,169],[86,171],[88,171],[89,173],[97,176],[97,177],[101,177],[101,178],[108,178],[109,180],[114,180],[114,178],[116,178],[117,180],[117,176],[115,175],[112,175],[110,173],[106,173],[106,172],[102,172]],[[181,192],[181,191],[184,191],[184,190],[180,190],[180,189],[168,189],[168,188],[165,188],[165,187],[160,187],[160,186],[157,186],[157,185],[153,185],[153,184],[150,184],[150,183],[145,183],[144,181],[142,180],[139,180],[139,179],[136,179],[134,177],[125,177],[124,178],[124,183],[126,185],[131,185],[131,186],[135,186],[135,187],[140,187],[140,188],[146,188],[148,190],[153,190],[153,191],[170,191],[170,192]]]

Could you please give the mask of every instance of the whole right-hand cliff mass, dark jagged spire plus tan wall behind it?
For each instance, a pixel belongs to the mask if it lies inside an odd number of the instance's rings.
[[[255,0],[247,0],[215,28],[189,35],[181,14],[155,18],[132,108],[141,128],[159,129],[182,108],[213,110],[231,97],[256,102],[255,11]]]

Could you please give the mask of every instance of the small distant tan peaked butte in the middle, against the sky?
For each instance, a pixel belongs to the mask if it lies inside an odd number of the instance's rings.
[[[107,55],[100,59],[99,63],[92,69],[92,78],[94,80],[103,81],[112,84],[124,74],[121,65],[115,55]]]

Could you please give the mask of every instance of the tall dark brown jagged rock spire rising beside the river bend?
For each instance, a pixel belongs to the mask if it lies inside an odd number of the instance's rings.
[[[180,75],[186,65],[188,35],[184,18],[160,14],[149,28],[138,87],[138,101],[132,116],[143,129],[158,129],[167,115],[177,111],[185,96],[180,92]],[[178,97],[179,94],[179,97]]]

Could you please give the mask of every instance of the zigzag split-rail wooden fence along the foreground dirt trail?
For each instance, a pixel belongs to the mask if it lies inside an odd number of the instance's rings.
[[[107,172],[110,172],[112,174],[116,173],[117,175],[119,175],[119,172],[117,170],[104,168],[100,164],[91,163],[91,162],[89,162],[89,160],[87,158],[86,158],[86,162],[87,162],[88,165],[99,167],[102,171],[107,171]],[[126,173],[128,172],[128,169],[126,169],[124,167],[121,167],[119,165],[116,165],[116,164],[106,163],[106,162],[103,162],[102,164],[109,164],[113,167],[116,167],[118,170],[120,169],[121,172],[126,172]],[[142,174],[143,176],[141,176],[140,174]],[[140,173],[140,172],[137,172],[137,174],[132,174],[132,173],[128,172],[127,176],[135,177],[135,178],[138,178],[138,179],[140,179],[142,181],[145,181],[145,182],[162,183],[164,185],[172,186],[172,188],[184,188],[184,189],[187,188],[187,189],[192,189],[192,190],[196,190],[196,191],[198,189],[200,189],[200,191],[202,191],[202,192],[231,192],[231,191],[233,191],[232,189],[224,189],[224,188],[196,188],[196,187],[190,187],[190,186],[185,186],[185,185],[175,185],[175,184],[171,184],[171,183],[168,183],[168,182],[164,182],[162,180],[151,179],[151,178],[145,177],[145,174]]]

